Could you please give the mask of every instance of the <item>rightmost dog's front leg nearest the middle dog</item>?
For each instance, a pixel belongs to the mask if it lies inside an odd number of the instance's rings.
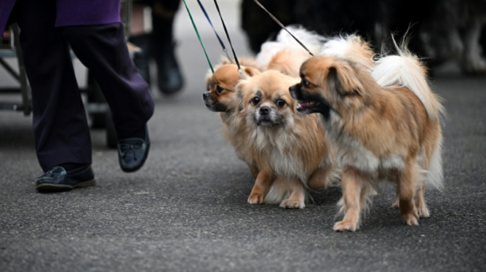
[[[334,224],[335,231],[356,231],[361,212],[361,190],[364,178],[353,168],[345,168],[341,180],[343,190],[344,218]]]

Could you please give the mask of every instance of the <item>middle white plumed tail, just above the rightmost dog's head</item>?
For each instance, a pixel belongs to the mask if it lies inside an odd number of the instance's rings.
[[[373,51],[371,50],[371,46],[355,34],[329,38],[322,45],[318,55],[349,59],[366,68],[373,66]]]

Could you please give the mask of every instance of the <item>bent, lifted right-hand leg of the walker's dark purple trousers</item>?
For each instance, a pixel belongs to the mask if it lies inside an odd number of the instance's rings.
[[[129,56],[122,24],[60,27],[59,31],[98,82],[112,110],[118,138],[143,138],[154,104]]]

